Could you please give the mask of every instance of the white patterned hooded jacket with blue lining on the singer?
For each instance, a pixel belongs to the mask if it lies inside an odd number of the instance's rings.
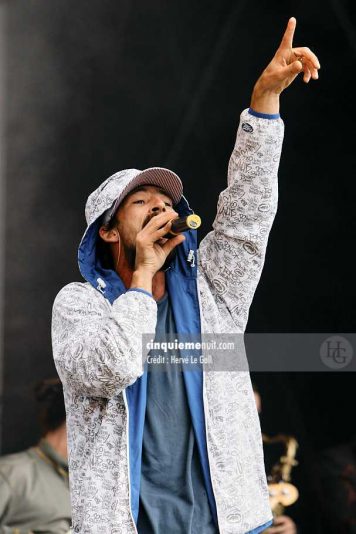
[[[241,114],[213,230],[198,251],[196,231],[187,232],[166,272],[180,334],[245,330],[277,209],[283,140],[280,118],[256,115]],[[130,171],[124,172],[128,183]],[[157,305],[143,290],[127,291],[96,255],[101,216],[120,193],[113,175],[89,197],[78,255],[86,282],[65,286],[53,306],[72,527],[81,534],[137,532],[148,354],[142,337],[154,335]],[[184,197],[175,210],[192,213]],[[256,534],[272,514],[247,364],[212,371],[204,362],[214,360],[214,351],[203,357],[201,372],[185,372],[184,381],[209,504],[220,534]]]

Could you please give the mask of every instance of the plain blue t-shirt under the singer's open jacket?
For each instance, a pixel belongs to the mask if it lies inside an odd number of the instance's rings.
[[[156,336],[176,332],[166,294]],[[139,534],[218,534],[205,490],[182,367],[151,364],[142,443]],[[179,354],[175,353],[176,356]]]

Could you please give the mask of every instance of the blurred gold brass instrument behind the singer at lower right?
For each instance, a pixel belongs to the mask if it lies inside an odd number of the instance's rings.
[[[298,465],[295,459],[298,442],[293,436],[278,434],[267,436],[262,434],[264,444],[282,443],[285,446],[285,454],[273,465],[271,473],[267,476],[270,505],[274,516],[283,515],[286,506],[294,504],[299,492],[291,484],[292,468]]]

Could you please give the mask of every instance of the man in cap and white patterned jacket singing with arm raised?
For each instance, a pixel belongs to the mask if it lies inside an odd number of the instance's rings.
[[[86,283],[60,291],[52,324],[74,532],[251,534],[272,523],[248,372],[203,363],[201,372],[148,373],[142,341],[245,330],[277,209],[279,95],[320,68],[308,48],[293,47],[295,25],[241,114],[228,186],[198,251],[195,230],[165,237],[192,213],[168,169],[117,172],[88,198]]]

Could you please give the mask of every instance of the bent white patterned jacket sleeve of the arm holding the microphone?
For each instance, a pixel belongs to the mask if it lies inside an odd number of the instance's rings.
[[[157,304],[128,291],[111,305],[88,284],[73,283],[57,295],[52,315],[53,356],[72,392],[112,397],[143,374],[143,334],[153,334]],[[148,350],[147,350],[148,352]]]

